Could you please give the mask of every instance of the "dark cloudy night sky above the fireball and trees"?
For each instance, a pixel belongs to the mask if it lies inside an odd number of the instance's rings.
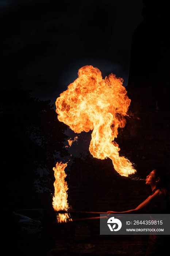
[[[20,84],[55,105],[84,65],[127,86],[142,8],[142,0],[0,0],[1,86]]]

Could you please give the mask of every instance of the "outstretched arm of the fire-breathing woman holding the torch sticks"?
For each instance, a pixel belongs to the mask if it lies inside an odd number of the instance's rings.
[[[108,214],[138,214],[138,213],[143,213],[146,212],[148,209],[153,207],[159,200],[162,200],[162,192],[156,191],[153,195],[149,196],[144,202],[139,204],[138,207],[132,210],[128,211],[122,211],[122,212],[116,212],[116,211],[108,211]]]

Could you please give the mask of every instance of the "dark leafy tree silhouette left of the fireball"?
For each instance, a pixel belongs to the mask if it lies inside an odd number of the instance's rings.
[[[0,98],[4,183],[9,202],[24,205],[33,199],[35,180],[53,189],[53,167],[67,155],[63,147],[67,126],[58,121],[50,100],[33,98],[20,86],[0,89]]]

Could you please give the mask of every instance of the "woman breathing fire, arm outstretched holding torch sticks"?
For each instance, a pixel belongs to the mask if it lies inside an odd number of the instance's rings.
[[[163,170],[154,169],[146,177],[146,185],[150,185],[152,193],[147,197],[144,202],[139,204],[133,210],[115,212],[108,211],[108,214],[169,214],[170,213],[170,201],[167,193],[166,186],[169,184],[169,178]],[[161,256],[166,255],[168,247],[169,236],[164,235],[150,235],[149,246],[147,248],[146,256]],[[165,253],[165,254],[163,254]]]

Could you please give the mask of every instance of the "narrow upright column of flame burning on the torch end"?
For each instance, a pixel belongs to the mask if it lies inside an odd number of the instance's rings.
[[[53,196],[53,208],[55,211],[67,211],[69,209],[69,205],[67,203],[67,182],[65,181],[65,177],[67,176],[65,173],[65,167],[67,163],[56,163],[56,167],[53,167],[55,182],[54,182],[54,196]],[[67,222],[71,221],[68,213],[58,213],[57,222]]]

